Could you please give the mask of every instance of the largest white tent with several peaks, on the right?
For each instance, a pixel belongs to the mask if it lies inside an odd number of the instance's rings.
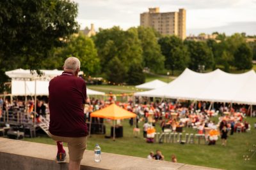
[[[256,73],[230,74],[216,69],[211,73],[196,73],[190,69],[164,87],[135,96],[165,97],[223,103],[256,104]]]

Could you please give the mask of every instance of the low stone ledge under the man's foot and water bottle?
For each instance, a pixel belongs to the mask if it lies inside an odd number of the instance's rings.
[[[0,138],[0,169],[68,169],[68,164],[56,164],[55,155],[57,147],[42,143],[17,141],[13,139]],[[68,150],[65,148],[65,150]],[[159,160],[148,160],[139,157],[116,155],[113,153],[102,153],[102,161],[94,162],[93,152],[86,150],[84,159],[81,161],[83,169],[206,169],[210,167],[191,166],[188,164],[173,163]],[[67,155],[68,162],[68,155]]]

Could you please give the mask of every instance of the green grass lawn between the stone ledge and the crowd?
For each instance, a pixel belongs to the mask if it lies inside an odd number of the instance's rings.
[[[246,118],[253,126],[256,118]],[[106,122],[106,133],[109,135],[111,122]],[[99,143],[102,152],[117,153],[122,155],[131,155],[135,157],[147,157],[150,151],[161,150],[165,160],[170,160],[170,156],[175,154],[180,163],[193,164],[198,166],[216,167],[221,169],[255,169],[256,155],[251,160],[245,161],[243,155],[252,155],[248,152],[256,144],[256,129],[252,128],[251,132],[234,134],[228,136],[227,146],[221,146],[220,140],[215,146],[179,143],[146,143],[142,137],[134,138],[132,127],[129,126],[128,120],[122,122],[124,125],[124,138],[105,139],[104,135],[92,135],[88,138],[88,150],[93,150],[96,143]],[[142,127],[143,123],[140,123]],[[157,131],[160,132],[159,125]],[[184,129],[184,132],[195,132],[192,129]],[[38,138],[26,138],[26,141],[38,143],[47,143],[55,145],[52,139],[46,136]]]

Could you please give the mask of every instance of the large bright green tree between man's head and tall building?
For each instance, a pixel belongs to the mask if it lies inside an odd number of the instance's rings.
[[[113,76],[109,76],[112,74],[109,73],[109,68],[111,68],[109,64],[113,66],[113,62],[120,64],[120,67],[124,69],[124,74],[127,74],[132,64],[141,65],[143,62],[141,42],[135,28],[127,31],[123,31],[120,27],[100,29],[93,39],[100,57],[102,72],[107,73],[108,78],[113,78]],[[123,80],[125,82],[125,78],[126,76],[123,75],[116,81]]]

